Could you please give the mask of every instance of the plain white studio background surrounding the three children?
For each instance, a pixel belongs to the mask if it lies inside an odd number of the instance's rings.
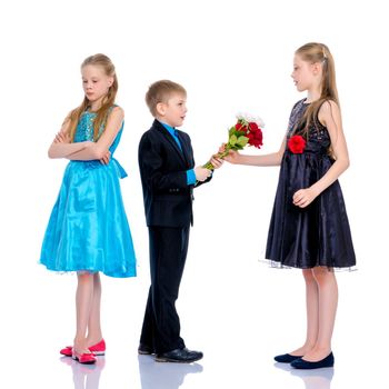
[[[169,370],[150,359],[138,361],[136,355],[149,282],[137,164],[139,139],[152,121],[144,104],[147,88],[164,78],[186,87],[189,112],[182,129],[191,136],[198,163],[226,141],[227,128],[242,110],[266,121],[263,148],[247,152],[273,152],[292,104],[303,97],[290,79],[293,51],[319,41],[329,46],[336,61],[351,159],[340,182],[359,269],[338,275],[332,388],[383,383],[389,325],[383,317],[389,270],[383,190],[389,56],[383,4],[379,0],[2,2],[0,382],[11,378],[8,388],[72,387],[72,375],[59,361],[58,350],[73,337],[76,279],[50,273],[37,262],[67,163],[49,160],[47,149],[68,111],[82,100],[82,60],[103,52],[117,67],[118,103],[126,111],[126,126],[116,157],[129,173],[121,183],[138,256],[137,279],[103,278],[109,355],[99,371],[100,388],[176,389],[186,373],[193,372],[191,368]],[[312,386],[301,376],[302,383],[271,361],[273,355],[300,346],[305,333],[299,271],[269,269],[258,261],[277,179],[277,168],[226,163],[210,184],[196,191],[194,228],[178,309],[188,347],[203,350],[206,358],[193,368],[203,370],[201,375],[188,375],[181,387],[329,387]],[[74,387],[80,388],[78,380],[86,371],[71,366]],[[97,388],[97,370],[89,377],[90,388]],[[240,383],[243,380],[247,383]]]

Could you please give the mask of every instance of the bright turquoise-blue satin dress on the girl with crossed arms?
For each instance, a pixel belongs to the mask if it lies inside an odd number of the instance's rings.
[[[93,140],[94,112],[83,112],[74,142]],[[70,161],[46,230],[40,262],[49,270],[134,277],[136,255],[119,179],[127,177],[112,158],[122,128],[110,147],[111,160]]]

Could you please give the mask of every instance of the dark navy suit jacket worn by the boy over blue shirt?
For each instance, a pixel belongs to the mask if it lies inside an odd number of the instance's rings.
[[[158,121],[140,139],[138,161],[148,227],[184,227],[193,222],[192,191],[187,170],[194,168],[188,133],[178,132],[182,150]]]

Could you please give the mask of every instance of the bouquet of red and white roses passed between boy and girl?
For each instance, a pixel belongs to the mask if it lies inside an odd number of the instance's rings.
[[[253,146],[260,149],[262,146],[263,120],[245,113],[237,114],[237,123],[229,129],[228,142],[225,144],[225,151],[217,153],[216,158],[225,158],[230,150],[243,150],[245,147]],[[213,170],[213,164],[209,161],[203,168]]]

